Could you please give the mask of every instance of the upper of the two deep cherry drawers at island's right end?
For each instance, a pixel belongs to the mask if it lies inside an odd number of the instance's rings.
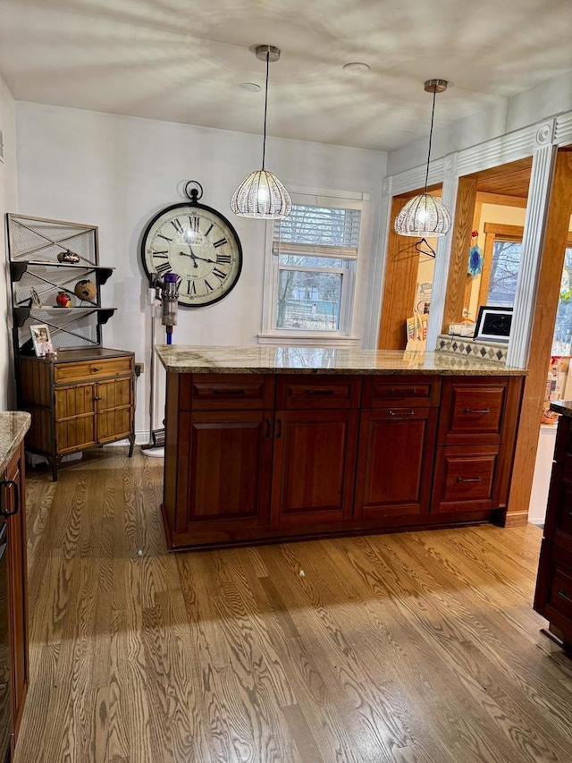
[[[505,381],[446,379],[443,384],[439,445],[493,445],[502,442],[507,401]]]

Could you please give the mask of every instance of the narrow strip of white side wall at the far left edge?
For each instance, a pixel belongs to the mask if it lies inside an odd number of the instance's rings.
[[[4,162],[0,161],[0,216],[3,233],[0,234],[0,411],[14,407],[12,384],[13,363],[11,336],[11,301],[9,297],[8,253],[5,242],[4,219],[6,212],[17,209],[16,182],[16,130],[15,106],[10,90],[0,78],[0,130],[4,132]]]

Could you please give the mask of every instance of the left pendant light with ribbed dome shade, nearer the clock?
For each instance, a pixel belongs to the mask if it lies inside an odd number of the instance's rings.
[[[262,143],[262,169],[250,173],[246,180],[232,194],[231,210],[241,217],[261,217],[265,220],[282,220],[290,215],[292,199],[275,174],[265,170],[266,114],[268,112],[268,69],[271,61],[280,59],[280,48],[273,45],[259,45],[257,58],[266,62],[265,88],[265,132]]]

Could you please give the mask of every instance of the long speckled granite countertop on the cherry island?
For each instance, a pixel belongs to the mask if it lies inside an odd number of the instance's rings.
[[[175,374],[440,374],[525,376],[527,371],[447,352],[355,350],[338,347],[214,347],[159,344],[164,368]]]

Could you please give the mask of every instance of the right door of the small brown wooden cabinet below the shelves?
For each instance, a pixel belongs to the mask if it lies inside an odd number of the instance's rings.
[[[124,377],[97,382],[98,443],[129,437],[133,422],[133,379]]]

